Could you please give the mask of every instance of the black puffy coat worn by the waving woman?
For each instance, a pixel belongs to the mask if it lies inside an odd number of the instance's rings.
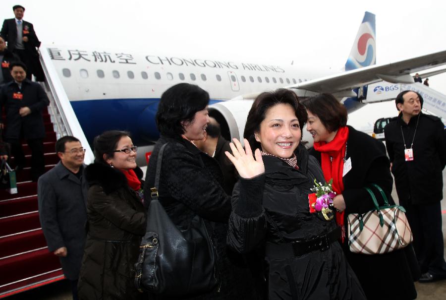
[[[273,156],[263,156],[265,175],[240,179],[232,194],[228,244],[238,252],[310,240],[336,228],[310,213],[308,194],[314,180],[325,182],[321,167],[303,145],[296,150],[299,170]],[[242,183],[257,181],[247,189]],[[338,242],[325,251],[299,257],[265,257],[269,299],[365,299],[359,282],[347,264]]]

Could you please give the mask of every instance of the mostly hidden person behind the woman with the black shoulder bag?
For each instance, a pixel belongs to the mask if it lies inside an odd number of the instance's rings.
[[[214,118],[209,118],[210,122],[206,127],[205,137],[202,140],[194,141],[195,145],[209,156],[215,158],[223,173],[223,189],[226,194],[231,195],[237,175],[234,165],[224,154],[225,151],[232,152],[229,142],[221,135],[220,124]]]

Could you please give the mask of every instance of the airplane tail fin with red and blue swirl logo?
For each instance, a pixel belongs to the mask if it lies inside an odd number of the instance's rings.
[[[376,63],[375,15],[366,11],[359,26],[350,55],[345,63],[345,70],[353,70]]]

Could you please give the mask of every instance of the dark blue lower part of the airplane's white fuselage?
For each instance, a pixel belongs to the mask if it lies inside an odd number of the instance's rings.
[[[106,130],[126,130],[135,145],[155,141],[159,134],[155,122],[160,98],[99,99],[70,101],[90,144]],[[220,102],[211,100],[209,104]]]

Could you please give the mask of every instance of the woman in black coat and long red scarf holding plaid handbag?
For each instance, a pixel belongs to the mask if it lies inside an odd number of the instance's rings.
[[[415,299],[414,279],[419,270],[411,269],[411,246],[385,254],[356,254],[349,250],[347,215],[365,213],[374,208],[364,187],[378,184],[390,196],[392,177],[384,144],[347,126],[347,111],[333,95],[320,94],[304,103],[307,130],[314,139],[314,155],[322,166],[327,181],[333,179],[337,210],[336,222],[342,228],[341,244],[348,263],[356,273],[367,299]],[[375,191],[375,194],[379,193]],[[384,200],[377,196],[380,205]],[[410,262],[410,263],[409,263]]]

